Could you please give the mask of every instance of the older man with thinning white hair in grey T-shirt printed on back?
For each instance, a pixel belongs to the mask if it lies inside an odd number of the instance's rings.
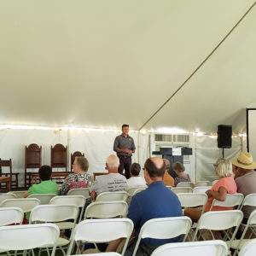
[[[126,178],[119,174],[119,158],[116,155],[108,156],[106,169],[109,174],[98,176],[90,187],[92,200],[96,200],[96,196],[102,192],[125,191],[126,189]]]

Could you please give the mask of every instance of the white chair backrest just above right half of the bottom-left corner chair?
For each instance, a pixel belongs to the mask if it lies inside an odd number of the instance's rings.
[[[79,207],[75,205],[40,205],[32,209],[29,222],[60,222],[78,218]]]

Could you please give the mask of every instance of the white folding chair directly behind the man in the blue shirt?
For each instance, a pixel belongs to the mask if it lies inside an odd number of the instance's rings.
[[[191,224],[191,219],[186,216],[149,219],[140,230],[132,256],[136,255],[137,248],[143,238],[171,239],[183,235],[183,241],[185,241]]]

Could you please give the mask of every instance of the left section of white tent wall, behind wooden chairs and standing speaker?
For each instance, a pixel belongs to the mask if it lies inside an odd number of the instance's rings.
[[[70,168],[70,154],[74,151],[81,151],[89,160],[89,173],[105,172],[105,162],[109,154],[115,154],[113,151],[113,140],[119,135],[119,131],[44,131],[44,130],[0,130],[0,158],[13,161],[13,172],[20,172],[20,186],[24,184],[24,161],[25,146],[30,143],[37,143],[42,146],[42,164],[50,165],[50,146],[61,143],[67,146],[68,165]],[[147,156],[148,136],[139,133],[130,132],[134,138],[137,151],[133,155],[133,161],[143,165]],[[138,152],[140,149],[140,153]],[[139,157],[139,158],[138,158]],[[3,172],[7,172],[3,168]],[[55,170],[55,171],[61,171]],[[38,170],[32,170],[38,172]]]

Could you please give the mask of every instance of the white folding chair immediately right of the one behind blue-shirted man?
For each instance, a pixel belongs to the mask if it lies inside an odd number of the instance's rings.
[[[233,232],[233,236],[230,238],[230,243],[234,240],[236,232],[241,224],[243,214],[240,210],[229,210],[229,211],[212,211],[205,212],[201,215],[201,218],[196,225],[193,241],[196,240],[196,235],[200,230],[223,230],[227,236],[228,231],[236,227]],[[214,240],[214,236],[212,235]]]

